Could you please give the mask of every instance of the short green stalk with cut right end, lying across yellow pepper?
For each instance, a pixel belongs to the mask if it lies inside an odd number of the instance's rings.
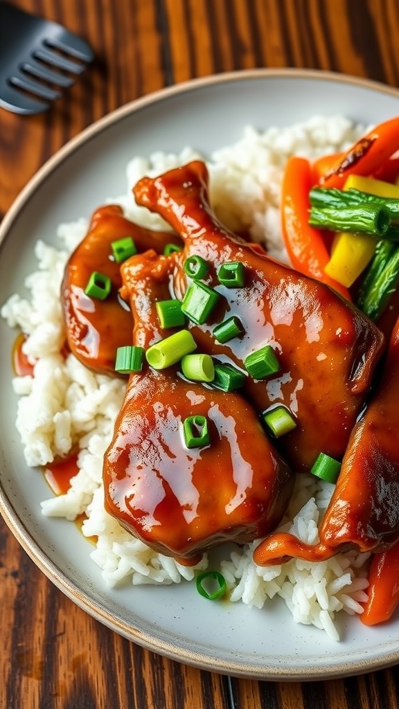
[[[390,215],[385,206],[376,203],[353,204],[340,208],[312,207],[309,223],[322,229],[383,236],[390,225]]]

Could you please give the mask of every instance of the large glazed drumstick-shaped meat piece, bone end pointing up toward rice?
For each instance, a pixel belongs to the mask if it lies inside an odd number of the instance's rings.
[[[319,452],[340,458],[370,387],[383,335],[328,286],[263,257],[223,228],[209,207],[202,162],[143,178],[133,191],[139,204],[160,213],[185,242],[173,274],[175,296],[182,298],[187,289],[182,269],[187,256],[200,255],[210,264],[205,280],[223,298],[208,323],[190,325],[201,350],[242,367],[247,354],[273,345],[280,372],[267,381],[248,378],[246,396],[258,412],[283,403],[295,414],[297,428],[276,445],[297,471],[309,469]],[[228,260],[244,263],[244,288],[217,285],[215,272]],[[240,318],[245,335],[219,345],[212,329],[227,315]]]

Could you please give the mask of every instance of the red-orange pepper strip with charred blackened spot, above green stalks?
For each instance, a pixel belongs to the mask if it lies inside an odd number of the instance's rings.
[[[380,123],[360,138],[330,172],[320,178],[323,187],[342,189],[351,174],[368,176],[399,150],[399,117]]]

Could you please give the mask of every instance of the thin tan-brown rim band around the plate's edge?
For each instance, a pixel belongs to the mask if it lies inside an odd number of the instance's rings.
[[[64,162],[67,157],[72,155],[75,151],[79,150],[81,145],[85,145],[92,140],[96,135],[102,133],[104,130],[110,126],[123,121],[124,118],[129,118],[129,116],[138,111],[143,110],[147,106],[156,104],[160,101],[168,99],[173,96],[181,96],[190,91],[195,91],[197,89],[204,89],[209,86],[214,86],[215,84],[229,84],[231,82],[241,82],[248,79],[309,79],[309,80],[322,80],[331,81],[345,85],[353,85],[358,87],[363,87],[365,89],[370,89],[371,91],[378,91],[380,93],[388,94],[396,99],[399,99],[399,89],[393,86],[388,86],[387,84],[382,84],[381,82],[376,82],[372,79],[365,79],[363,77],[356,77],[350,74],[341,74],[339,72],[330,72],[319,69],[298,69],[298,68],[258,68],[258,69],[242,69],[232,72],[222,72],[220,74],[212,74],[207,77],[198,77],[195,79],[189,79],[185,82],[180,82],[178,84],[173,84],[173,86],[167,86],[163,89],[158,89],[150,94],[141,96],[138,99],[133,99],[123,106],[114,109],[107,113],[102,118],[99,118],[94,123],[84,128],[80,133],[75,135],[75,137],[65,143],[60,149],[55,152],[39,169],[38,171],[28,180],[26,186],[23,187],[21,192],[16,196],[16,199],[11,204],[9,210],[6,212],[3,220],[0,223],[0,247],[9,230],[12,228],[14,221],[18,218],[18,214],[21,209],[28,203],[31,197],[34,195],[36,189],[42,184],[53,171],[58,169],[60,164]],[[388,666],[392,666],[399,661],[399,650],[398,652],[388,652],[379,660],[376,659],[359,659],[351,667],[346,666],[343,663],[342,666],[335,666],[330,668],[329,666],[317,666],[309,667],[304,669],[303,666],[297,669],[290,667],[288,671],[285,666],[281,668],[273,668],[265,666],[262,671],[259,671],[259,667],[256,664],[251,664],[248,661],[234,661],[225,659],[219,659],[217,657],[209,657],[209,655],[203,654],[198,651],[192,651],[186,648],[179,647],[173,642],[165,642],[162,638],[154,638],[151,634],[140,630],[137,627],[129,625],[126,621],[121,621],[114,614],[111,614],[101,603],[92,601],[87,591],[79,588],[71,579],[68,578],[62,569],[60,569],[55,562],[53,562],[46,552],[40,547],[40,544],[33,539],[31,534],[28,532],[23,520],[18,516],[16,509],[13,506],[11,498],[6,493],[0,479],[0,513],[9,527],[13,536],[16,537],[18,543],[23,547],[24,551],[28,554],[28,557],[32,559],[35,565],[40,569],[45,576],[62,592],[70,598],[70,600],[78,605],[82,610],[89,613],[95,620],[109,627],[110,630],[117,632],[122,637],[126,637],[131,642],[136,642],[146,649],[152,652],[157,652],[162,654],[169,659],[180,661],[183,664],[189,664],[195,666],[198,669],[204,669],[206,671],[214,671],[219,674],[229,674],[237,677],[246,677],[249,679],[258,679],[266,681],[315,681],[322,679],[334,679],[341,678],[345,676],[353,676],[354,674],[365,674],[370,671],[375,671],[378,669],[384,669]]]

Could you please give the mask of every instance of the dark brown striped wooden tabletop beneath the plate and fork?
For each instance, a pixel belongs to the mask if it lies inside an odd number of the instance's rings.
[[[398,0],[13,0],[83,35],[93,67],[48,113],[0,109],[0,213],[104,114],[231,69],[311,67],[399,87]],[[396,669],[325,682],[229,679],[124,640],[68,600],[0,525],[1,709],[396,709]]]

